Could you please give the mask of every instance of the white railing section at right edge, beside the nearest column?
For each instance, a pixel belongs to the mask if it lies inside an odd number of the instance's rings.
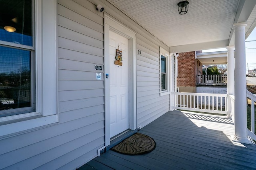
[[[250,98],[252,101],[251,104],[251,130],[247,129],[247,135],[256,141],[255,134],[255,114],[254,114],[254,102],[256,101],[256,96],[247,90],[247,98]]]

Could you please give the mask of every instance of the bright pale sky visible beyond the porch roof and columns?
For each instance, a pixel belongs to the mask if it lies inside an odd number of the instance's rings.
[[[246,47],[246,71],[256,68],[256,28],[252,31],[245,42]],[[203,53],[214,51],[227,51],[226,48],[203,50]],[[248,65],[247,65],[248,63]]]

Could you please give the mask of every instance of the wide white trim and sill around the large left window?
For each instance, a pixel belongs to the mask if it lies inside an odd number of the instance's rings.
[[[58,122],[57,0],[35,0],[34,10],[37,112],[0,117],[0,140]]]

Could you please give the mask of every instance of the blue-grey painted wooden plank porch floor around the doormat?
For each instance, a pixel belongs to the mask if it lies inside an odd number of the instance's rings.
[[[156,149],[138,156],[108,150],[79,170],[256,169],[255,144],[232,142],[234,124],[221,116],[170,111],[139,133],[152,137]]]

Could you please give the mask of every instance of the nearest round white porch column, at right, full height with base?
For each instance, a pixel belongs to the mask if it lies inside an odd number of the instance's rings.
[[[236,23],[235,30],[235,135],[232,141],[251,144],[247,138],[246,120],[246,60],[245,60],[245,26],[246,23]]]

